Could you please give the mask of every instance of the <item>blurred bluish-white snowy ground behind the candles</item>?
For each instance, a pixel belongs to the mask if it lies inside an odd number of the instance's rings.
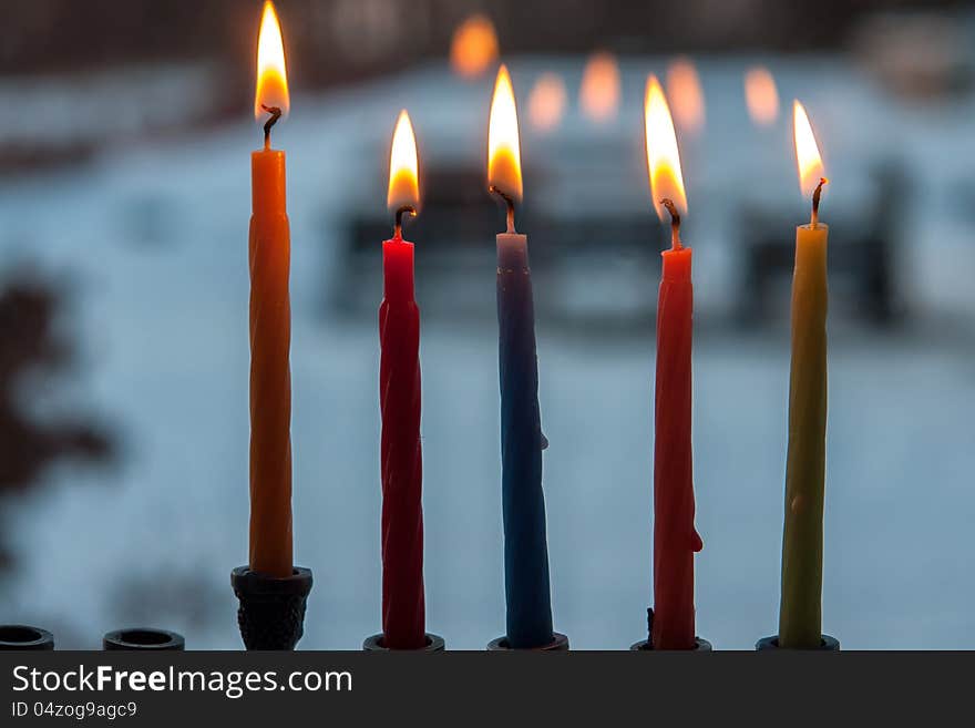
[[[547,64],[515,63],[520,92]],[[643,76],[661,65],[627,65],[612,133],[640,133]],[[736,225],[728,191],[743,170],[764,180],[756,171],[773,167],[779,147],[750,131],[745,63],[701,68],[709,125],[690,144],[685,174],[700,211],[698,296],[719,309],[735,255],[722,243]],[[975,377],[973,341],[958,321],[975,310],[975,247],[971,222],[951,205],[955,186],[972,184],[973,104],[895,109],[829,63],[773,71],[784,101],[807,102],[834,180],[858,178],[871,152],[906,139],[903,154],[923,191],[910,201],[924,215],[911,217],[902,268],[923,326],[889,335],[834,327],[824,628],[850,648],[973,648]],[[357,648],[380,618],[374,321],[321,311],[338,211],[381,189],[386,139],[403,105],[425,153],[480,155],[489,92],[490,80],[468,85],[421,70],[299,95],[277,135],[289,153],[292,224],[296,555],[316,576],[306,648]],[[569,119],[564,133],[581,129]],[[782,137],[782,171],[769,172],[767,186],[792,194],[786,129],[771,133]],[[525,135],[526,154],[551,143]],[[124,445],[117,471],[51,471],[4,524],[19,564],[4,586],[3,621],[94,646],[138,615],[185,633],[195,648],[239,645],[229,571],[247,553],[248,152],[258,141],[242,123],[0,187],[4,264],[31,260],[74,284],[65,325],[80,332],[84,361],[62,399],[110,418]],[[363,155],[371,144],[381,146]],[[704,160],[707,174],[691,182]],[[623,162],[643,164],[638,155]],[[643,167],[634,170],[642,182]],[[762,194],[759,182],[749,189]],[[840,189],[838,182],[830,193],[837,206]],[[485,246],[493,233],[484,230]],[[378,277],[370,285],[378,305]],[[490,310],[493,271],[471,285]],[[653,340],[553,329],[538,321],[555,622],[575,647],[622,648],[644,636],[649,598]],[[454,648],[481,648],[504,624],[492,337],[490,325],[424,322],[429,627]],[[781,330],[708,328],[696,342],[698,624],[721,648],[749,648],[777,626],[788,363]],[[141,601],[123,588],[132,583],[142,585]]]

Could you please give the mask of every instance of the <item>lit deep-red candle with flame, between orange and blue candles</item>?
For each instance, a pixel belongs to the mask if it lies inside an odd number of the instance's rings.
[[[379,308],[379,401],[382,410],[382,635],[388,649],[425,645],[423,604],[423,460],[420,445],[420,309],[413,299],[413,244],[403,215],[420,204],[417,142],[406,111],[392,140],[387,203],[396,215],[382,244],[384,296]]]

